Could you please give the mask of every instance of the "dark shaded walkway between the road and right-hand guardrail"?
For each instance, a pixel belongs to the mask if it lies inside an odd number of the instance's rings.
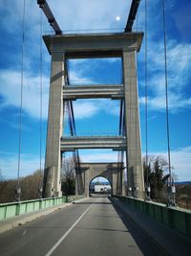
[[[188,256],[191,252],[191,240],[169,228],[165,224],[154,221],[135,208],[112,198],[114,205],[125,215],[126,221],[134,223],[139,232],[145,234],[148,239],[163,251],[161,255]]]

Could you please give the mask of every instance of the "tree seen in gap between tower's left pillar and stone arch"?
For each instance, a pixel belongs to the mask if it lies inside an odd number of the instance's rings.
[[[64,196],[75,193],[75,164],[74,158],[65,158],[61,172],[61,190]]]

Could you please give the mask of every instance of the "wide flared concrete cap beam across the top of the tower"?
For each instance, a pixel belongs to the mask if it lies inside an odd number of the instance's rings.
[[[98,58],[102,55],[121,57],[124,49],[139,51],[142,37],[143,33],[116,33],[44,35],[43,39],[50,54],[65,52],[66,58]]]

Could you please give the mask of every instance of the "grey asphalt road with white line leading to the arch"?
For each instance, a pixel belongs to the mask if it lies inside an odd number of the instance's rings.
[[[161,255],[114,199],[88,198],[0,235],[0,255]]]

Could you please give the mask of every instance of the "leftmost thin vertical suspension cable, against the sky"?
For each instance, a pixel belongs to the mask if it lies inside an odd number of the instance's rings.
[[[21,165],[21,131],[22,131],[22,112],[23,112],[23,79],[24,79],[24,41],[25,41],[25,0],[23,0],[22,18],[22,41],[21,41],[21,84],[20,84],[20,110],[19,110],[19,138],[18,138],[18,169],[17,169],[17,188],[16,200],[20,200],[20,165]]]

